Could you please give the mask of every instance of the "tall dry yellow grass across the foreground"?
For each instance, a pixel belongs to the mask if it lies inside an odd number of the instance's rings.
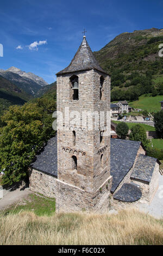
[[[136,210],[118,214],[1,215],[0,245],[162,245],[163,221]]]

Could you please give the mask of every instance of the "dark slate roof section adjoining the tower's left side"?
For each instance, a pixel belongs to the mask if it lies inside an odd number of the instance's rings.
[[[57,176],[57,136],[49,139],[45,148],[31,165],[35,170]]]

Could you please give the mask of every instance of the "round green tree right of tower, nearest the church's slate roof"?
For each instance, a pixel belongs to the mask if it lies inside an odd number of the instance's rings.
[[[144,127],[140,124],[136,124],[131,127],[131,133],[129,135],[131,141],[141,141],[144,147],[147,147],[148,139]]]

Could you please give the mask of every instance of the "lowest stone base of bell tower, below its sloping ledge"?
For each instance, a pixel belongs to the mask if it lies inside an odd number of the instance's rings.
[[[56,198],[56,209],[59,212],[106,212],[110,205],[109,196],[111,185],[112,177],[110,176],[108,180],[92,194],[79,187],[58,180],[59,196]]]

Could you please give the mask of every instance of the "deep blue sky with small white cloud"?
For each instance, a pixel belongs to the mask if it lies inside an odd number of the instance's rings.
[[[48,83],[70,64],[82,39],[98,51],[116,35],[162,28],[163,0],[15,0],[0,3],[0,69],[16,66]]]

